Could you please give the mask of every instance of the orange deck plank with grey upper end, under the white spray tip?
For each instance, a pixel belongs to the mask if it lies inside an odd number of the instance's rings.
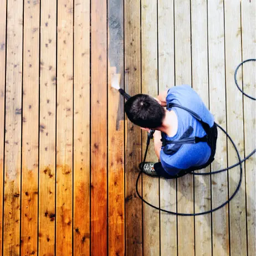
[[[109,255],[125,255],[124,97],[111,88],[116,80],[124,88],[124,3],[107,6]]]

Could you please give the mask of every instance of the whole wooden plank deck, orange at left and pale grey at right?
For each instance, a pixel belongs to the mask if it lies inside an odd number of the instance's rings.
[[[255,102],[234,69],[256,57],[255,0],[0,0],[0,252],[14,255],[255,256],[255,156],[231,203],[196,217],[136,196],[145,132],[124,115],[112,74],[134,95],[190,84],[242,157]],[[255,97],[255,63],[238,82]],[[157,160],[153,147],[147,160]],[[219,131],[216,160],[237,162]],[[198,213],[233,193],[239,167],[178,180],[143,176],[143,197]]]

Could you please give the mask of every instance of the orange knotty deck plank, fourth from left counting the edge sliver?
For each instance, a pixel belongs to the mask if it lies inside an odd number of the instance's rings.
[[[54,255],[57,2],[41,2],[38,254]]]

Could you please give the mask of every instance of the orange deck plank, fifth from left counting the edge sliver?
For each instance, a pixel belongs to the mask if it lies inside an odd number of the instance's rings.
[[[58,1],[56,253],[72,253],[73,1]]]

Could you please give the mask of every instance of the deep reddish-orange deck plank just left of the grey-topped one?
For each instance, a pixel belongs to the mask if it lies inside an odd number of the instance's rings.
[[[107,8],[91,2],[91,255],[107,255]]]

